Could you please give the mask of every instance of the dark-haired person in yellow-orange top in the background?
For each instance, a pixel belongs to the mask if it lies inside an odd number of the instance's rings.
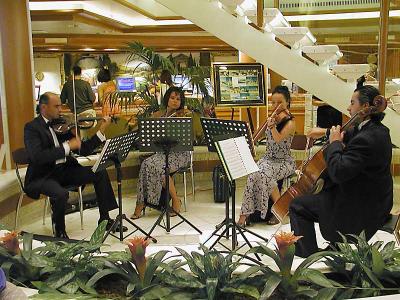
[[[115,115],[121,112],[119,103],[111,103],[110,95],[117,90],[117,86],[114,81],[111,80],[111,73],[108,69],[101,69],[97,74],[97,80],[101,82],[97,88],[99,96],[99,103],[102,106],[103,116]],[[113,107],[111,107],[113,106]]]

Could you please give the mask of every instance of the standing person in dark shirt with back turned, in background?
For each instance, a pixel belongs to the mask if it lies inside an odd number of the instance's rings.
[[[72,82],[73,77],[71,76],[64,84],[60,95],[61,103],[67,104],[69,109],[75,112],[73,90],[73,85],[75,85],[76,113],[78,117],[96,117],[96,111],[93,106],[96,96],[92,91],[92,87],[81,78],[82,69],[79,66],[74,66],[72,71],[74,72],[75,81],[74,83]],[[81,130],[80,135],[82,139],[88,138],[86,130]]]

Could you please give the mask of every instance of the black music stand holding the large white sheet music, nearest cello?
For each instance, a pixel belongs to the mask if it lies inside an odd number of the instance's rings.
[[[219,140],[224,140],[231,137],[244,136],[246,138],[247,144],[249,145],[250,152],[254,155],[254,144],[253,137],[251,135],[250,127],[245,121],[235,121],[235,120],[218,120],[218,119],[208,119],[201,118],[201,125],[203,127],[204,135],[207,141],[208,151],[217,152],[215,147],[215,142]],[[226,175],[227,176],[227,175]],[[254,235],[255,237],[268,242],[268,239],[262,237],[261,235],[248,230],[247,228],[239,225],[235,221],[235,197],[236,197],[236,183],[235,180],[230,181],[231,195],[232,195],[232,212],[229,214],[229,200],[225,202],[225,219],[219,223],[210,237],[204,242],[206,244],[212,237],[217,236],[217,239],[211,245],[210,249],[214,248],[217,243],[222,247],[233,251],[237,249],[237,234],[243,237],[246,244],[251,248],[252,245],[250,241],[245,236],[245,232]],[[224,229],[223,229],[224,228]],[[229,234],[229,229],[232,228],[232,233]],[[218,233],[221,229],[222,232]],[[224,237],[229,239],[232,236],[232,248],[229,249],[227,246],[220,242],[221,238]],[[241,247],[243,247],[243,244]],[[239,249],[241,248],[239,247]],[[261,260],[258,254],[255,254],[258,260]]]

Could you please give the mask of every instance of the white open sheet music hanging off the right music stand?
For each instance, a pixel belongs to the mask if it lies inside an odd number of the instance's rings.
[[[260,170],[244,136],[216,141],[215,147],[230,181]]]

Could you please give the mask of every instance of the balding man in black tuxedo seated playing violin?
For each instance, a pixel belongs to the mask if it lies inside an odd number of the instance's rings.
[[[38,114],[24,128],[25,148],[29,165],[25,176],[25,189],[29,197],[38,199],[40,194],[50,197],[53,229],[56,237],[68,238],[65,231],[65,208],[68,191],[64,186],[93,183],[99,206],[99,223],[108,220],[107,228],[113,224],[108,212],[118,207],[107,171],[93,173],[91,167],[83,167],[70,154],[79,151],[89,155],[105,141],[104,130],[111,119],[105,118],[99,131],[87,141],[81,142],[74,130],[56,135],[49,122],[60,115],[61,100],[53,93],[40,96]],[[120,230],[120,228],[117,228]],[[123,227],[126,230],[126,227]]]

